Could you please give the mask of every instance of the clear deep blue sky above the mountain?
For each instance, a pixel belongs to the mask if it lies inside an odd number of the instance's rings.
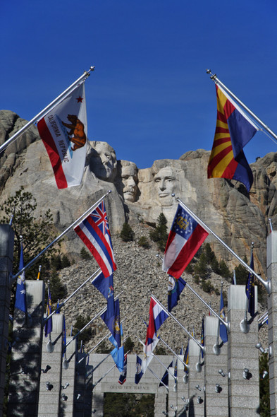
[[[277,3],[28,0],[1,4],[0,109],[30,120],[83,71],[88,136],[139,168],[211,149],[209,68],[277,134]],[[258,132],[248,161],[277,151]]]

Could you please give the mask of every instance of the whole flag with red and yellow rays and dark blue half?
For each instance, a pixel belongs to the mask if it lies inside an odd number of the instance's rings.
[[[252,139],[257,127],[218,85],[216,98],[216,133],[209,158],[208,178],[240,181],[249,192],[253,175],[242,148]]]

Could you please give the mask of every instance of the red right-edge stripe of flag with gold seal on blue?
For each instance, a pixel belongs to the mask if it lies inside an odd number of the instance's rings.
[[[168,269],[167,274],[173,275],[176,279],[180,278],[180,276],[183,274],[183,271],[185,271],[185,268],[206,239],[207,235],[209,235],[209,233],[207,233],[206,230],[204,230],[202,226],[198,224],[190,238],[180,250],[178,257],[171,265],[171,268]]]

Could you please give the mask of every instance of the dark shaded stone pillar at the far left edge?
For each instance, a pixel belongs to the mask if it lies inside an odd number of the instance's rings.
[[[10,274],[13,271],[13,229],[0,225],[0,416],[3,414],[6,355],[8,348],[8,314],[11,300]]]

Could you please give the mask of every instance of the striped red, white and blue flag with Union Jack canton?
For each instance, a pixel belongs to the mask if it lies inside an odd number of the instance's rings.
[[[81,221],[74,230],[87,248],[90,249],[90,252],[92,252],[104,277],[108,278],[111,276],[113,271],[116,270],[116,262],[113,256],[113,246],[111,244],[111,234],[104,201],[101,201],[90,216]]]

